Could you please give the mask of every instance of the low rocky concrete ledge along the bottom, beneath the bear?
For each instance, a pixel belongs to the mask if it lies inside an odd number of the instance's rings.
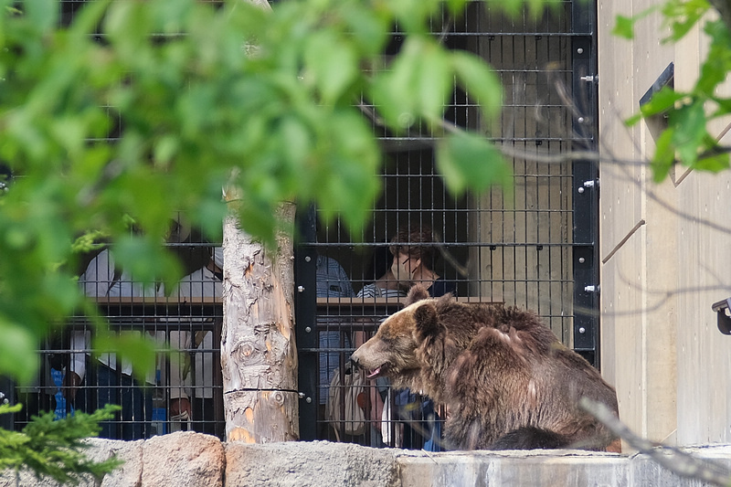
[[[705,482],[680,478],[641,455],[578,450],[427,451],[373,449],[326,441],[224,444],[179,432],[147,441],[92,439],[90,456],[125,461],[101,482],[82,487],[443,487],[674,485]],[[698,458],[731,467],[731,447],[692,450]],[[31,474],[0,474],[0,487],[55,487]]]

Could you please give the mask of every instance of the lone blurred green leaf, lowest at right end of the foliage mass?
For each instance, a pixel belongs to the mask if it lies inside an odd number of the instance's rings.
[[[453,195],[510,185],[512,172],[493,143],[468,133],[450,133],[437,147],[437,168]]]

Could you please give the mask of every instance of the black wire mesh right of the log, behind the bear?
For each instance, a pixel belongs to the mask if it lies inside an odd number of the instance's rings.
[[[446,411],[430,404],[428,398],[405,396],[382,382],[363,386],[368,399],[362,405],[366,428],[357,435],[343,434],[348,426],[345,418],[353,416],[346,415],[342,405],[347,399],[357,401],[357,396],[341,392],[337,404],[342,410],[335,415],[323,406],[333,395],[334,371],[340,376],[346,373],[355,347],[376,333],[378,323],[388,314],[401,308],[403,294],[374,297],[371,289],[374,283],[398,281],[388,274],[394,258],[388,244],[400,228],[431,230],[433,240],[426,246],[433,250],[429,261],[432,277],[448,281],[448,289],[458,299],[504,302],[534,310],[571,345],[573,168],[570,163],[542,161],[567,153],[580,139],[572,132],[575,106],[570,93],[574,7],[564,2],[540,16],[525,12],[509,18],[493,3],[475,1],[459,19],[445,12],[434,20],[435,37],[450,48],[486,59],[501,79],[503,111],[495,120],[484,120],[471,93],[459,89],[453,91],[445,113],[448,122],[484,133],[503,150],[514,185],[482,195],[452,196],[435,167],[435,141],[423,125],[417,123],[406,132],[393,134],[374,122],[386,164],[382,196],[373,208],[371,223],[357,235],[350,235],[337,221],[321,224],[314,244],[321,256],[342,266],[344,279],[350,281],[356,296],[328,297],[318,288],[321,338],[319,347],[312,349],[319,360],[318,438],[345,437],[366,445],[417,449],[440,450],[443,446],[434,443],[441,441],[439,424]],[[395,29],[387,54],[397,52],[402,40]],[[425,246],[411,240],[402,244]],[[323,336],[329,338],[323,340]]]

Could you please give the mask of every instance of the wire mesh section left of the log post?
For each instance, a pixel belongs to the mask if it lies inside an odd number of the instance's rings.
[[[165,244],[183,265],[185,277],[165,291],[163,282],[142,282],[115,261],[104,245],[79,261],[79,287],[96,302],[99,317],[118,334],[147,339],[154,366],[141,376],[127,359],[101,353],[105,328],[88,310],[69,316],[66,326],[41,347],[36,383],[16,387],[25,407],[16,415],[22,429],[33,415],[53,411],[64,418],[105,404],[122,407],[101,423],[102,438],[143,439],[175,430],[196,430],[224,438],[220,368],[222,252],[201,238],[176,213]],[[127,350],[135,355],[134,349]]]

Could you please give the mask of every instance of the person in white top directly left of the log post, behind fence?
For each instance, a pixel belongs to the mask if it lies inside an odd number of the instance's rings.
[[[220,297],[223,290],[223,248],[211,249],[210,259],[207,264],[188,274],[178,282],[176,289],[171,293],[171,298],[184,301],[186,297]],[[220,322],[220,318],[207,318],[211,323],[214,320]],[[189,324],[198,323],[193,319],[186,322]],[[181,321],[181,325],[183,322]],[[181,326],[182,328],[182,326]],[[220,370],[220,361],[214,361],[213,334],[210,330],[196,330],[195,332],[180,331],[170,332],[170,345],[183,352],[184,358],[170,360],[170,420],[171,429],[175,428],[175,422],[185,422],[191,419],[193,429],[214,436],[221,436],[216,424],[216,404],[214,401],[214,367]],[[205,350],[199,351],[197,349]],[[190,359],[185,352],[195,351],[194,368],[195,383],[191,386]],[[191,392],[195,392],[192,396]]]

